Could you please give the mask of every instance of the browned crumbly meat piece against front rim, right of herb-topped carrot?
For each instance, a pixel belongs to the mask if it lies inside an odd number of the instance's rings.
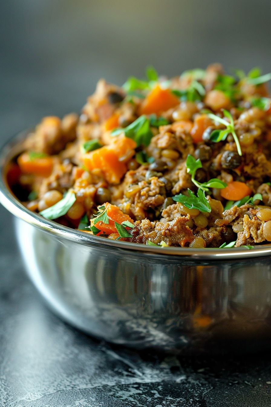
[[[189,217],[180,216],[171,222],[150,222],[143,219],[135,222],[132,230],[132,242],[146,244],[147,241],[160,243],[162,240],[169,246],[184,245],[194,239],[192,230],[186,226]]]

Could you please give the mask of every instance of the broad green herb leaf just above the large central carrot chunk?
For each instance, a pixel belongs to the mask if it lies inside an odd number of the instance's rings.
[[[118,136],[124,133],[126,137],[132,138],[138,146],[147,147],[150,144],[153,133],[150,129],[150,120],[146,116],[140,116],[124,129],[113,130],[111,136]]]

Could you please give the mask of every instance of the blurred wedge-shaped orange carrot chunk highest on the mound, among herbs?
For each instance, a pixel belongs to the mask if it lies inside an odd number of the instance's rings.
[[[180,99],[177,98],[169,89],[161,89],[159,85],[151,90],[142,102],[139,109],[140,114],[152,114],[165,112],[171,107],[180,104]]]

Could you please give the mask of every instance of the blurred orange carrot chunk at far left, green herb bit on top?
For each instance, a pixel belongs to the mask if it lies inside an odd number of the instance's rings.
[[[41,175],[48,177],[53,169],[52,157],[41,157],[31,159],[29,153],[22,153],[17,160],[22,173]]]

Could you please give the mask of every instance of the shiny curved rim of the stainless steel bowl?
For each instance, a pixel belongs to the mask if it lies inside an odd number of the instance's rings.
[[[106,250],[124,250],[125,252],[137,252],[141,255],[167,255],[167,256],[185,256],[189,258],[197,259],[208,259],[208,260],[224,260],[224,259],[235,259],[235,258],[249,258],[258,256],[268,256],[271,255],[271,244],[262,245],[259,247],[254,247],[253,249],[240,248],[204,248],[204,249],[193,249],[189,247],[156,247],[149,245],[141,245],[139,243],[129,243],[114,241],[110,239],[103,239],[98,236],[92,236],[66,226],[62,226],[59,223],[50,221],[41,217],[39,214],[31,212],[25,208],[20,201],[10,192],[5,182],[5,168],[7,164],[16,155],[15,148],[20,145],[20,142],[26,138],[26,135],[31,130],[25,130],[18,133],[16,136],[7,141],[0,148],[0,203],[7,208],[16,217],[23,219],[24,221],[34,225],[35,227],[42,229],[54,236],[59,238],[64,238],[72,240],[76,243],[104,248]]]

